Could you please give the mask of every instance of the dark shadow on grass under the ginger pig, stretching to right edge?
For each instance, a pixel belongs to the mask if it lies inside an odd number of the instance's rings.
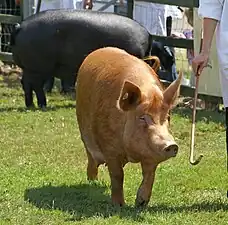
[[[105,194],[108,187],[98,183],[80,184],[75,186],[44,186],[25,190],[24,199],[38,208],[61,210],[73,215],[70,220],[101,216],[107,218],[118,215],[120,218],[142,221],[142,209],[134,206],[115,207],[110,196]],[[228,210],[228,204],[202,202],[192,205],[169,206],[158,204],[145,208],[149,213],[179,213],[179,212],[215,212]]]

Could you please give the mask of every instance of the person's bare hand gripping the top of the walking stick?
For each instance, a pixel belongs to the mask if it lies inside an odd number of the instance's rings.
[[[200,53],[192,60],[192,69],[198,76],[202,73],[204,67],[208,65],[209,53]]]

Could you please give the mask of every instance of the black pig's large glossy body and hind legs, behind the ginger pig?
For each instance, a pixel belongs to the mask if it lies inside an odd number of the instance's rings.
[[[113,46],[136,57],[150,55],[152,37],[139,23],[127,17],[91,10],[55,9],[26,18],[12,32],[14,62],[22,68],[27,107],[46,106],[43,86],[52,76],[69,83],[92,51]]]

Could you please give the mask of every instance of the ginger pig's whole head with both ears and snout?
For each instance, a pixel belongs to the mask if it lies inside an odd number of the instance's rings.
[[[124,147],[129,161],[159,163],[175,157],[178,145],[169,131],[169,110],[177,97],[180,78],[164,92],[152,85],[147,94],[125,82],[119,106],[126,113]]]

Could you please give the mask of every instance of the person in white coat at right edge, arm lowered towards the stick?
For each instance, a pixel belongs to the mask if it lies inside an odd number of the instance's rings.
[[[203,18],[203,41],[200,53],[192,60],[192,67],[196,76],[200,76],[208,65],[212,40],[216,31],[220,85],[226,114],[226,150],[228,155],[228,0],[200,0],[198,13]]]

